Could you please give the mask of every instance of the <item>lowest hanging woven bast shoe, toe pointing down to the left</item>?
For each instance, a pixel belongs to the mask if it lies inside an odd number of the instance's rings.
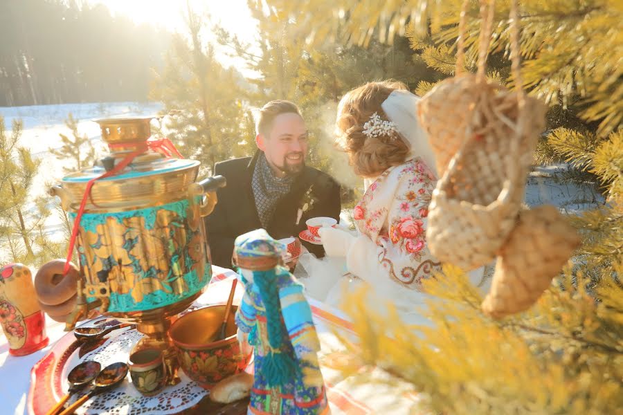
[[[500,250],[482,311],[500,318],[530,308],[578,245],[577,232],[554,206],[522,211]]]

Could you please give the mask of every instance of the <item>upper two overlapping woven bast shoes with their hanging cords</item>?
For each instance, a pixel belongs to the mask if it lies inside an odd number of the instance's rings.
[[[444,149],[435,154],[443,174],[429,208],[428,248],[441,261],[473,270],[494,260],[516,224],[545,106],[532,98],[526,105],[521,88],[509,91],[485,77],[492,2],[480,2],[478,72],[462,73],[468,3],[461,11],[456,76],[422,98],[419,116],[433,147]],[[517,45],[515,80],[518,59]]]

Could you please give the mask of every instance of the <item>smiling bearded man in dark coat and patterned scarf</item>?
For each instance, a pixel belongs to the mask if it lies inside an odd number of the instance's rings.
[[[271,237],[298,237],[305,221],[329,216],[339,221],[340,186],[305,165],[307,128],[296,104],[277,100],[260,109],[255,124],[258,151],[246,158],[215,165],[214,174],[227,179],[217,191],[218,203],[206,217],[214,265],[231,267],[234,239],[264,228]],[[322,246],[301,241],[317,257]]]

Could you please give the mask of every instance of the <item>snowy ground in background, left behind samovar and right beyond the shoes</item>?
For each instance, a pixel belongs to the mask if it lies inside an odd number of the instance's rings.
[[[94,118],[110,116],[144,116],[158,112],[160,104],[137,102],[112,102],[102,104],[62,104],[40,105],[32,107],[0,107],[0,116],[3,116],[7,131],[10,131],[12,120],[21,119],[24,122],[24,132],[21,136],[21,146],[28,147],[36,158],[41,160],[39,174],[30,192],[30,199],[44,195],[50,185],[60,183],[64,176],[63,162],[49,152],[61,146],[59,133],[71,136],[71,132],[64,124],[71,112],[78,120],[78,131],[93,142],[99,154],[106,154],[105,145],[100,137],[100,128]],[[590,187],[579,187],[563,184],[556,175],[566,169],[565,165],[536,167],[530,174],[526,189],[525,201],[530,206],[551,203],[559,206],[566,212],[584,210],[595,203],[603,203],[603,198]],[[51,198],[50,205],[58,201]],[[32,204],[31,204],[32,205]],[[54,240],[63,237],[60,216],[52,214],[46,222],[46,233]],[[0,246],[0,261],[6,259],[6,251],[2,243]],[[4,252],[3,252],[4,251]]]

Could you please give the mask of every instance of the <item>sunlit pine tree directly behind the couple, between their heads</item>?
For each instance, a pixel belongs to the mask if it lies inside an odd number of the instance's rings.
[[[279,98],[296,102],[309,130],[307,163],[337,177],[343,184],[343,205],[352,205],[361,179],[352,174],[346,158],[332,146],[341,96],[370,79],[392,78],[415,85],[422,79],[438,79],[435,71],[418,59],[411,61],[406,39],[388,46],[374,37],[368,48],[345,46],[332,39],[309,47],[305,39],[296,37],[298,26],[286,16],[267,14],[262,2],[248,3],[258,22],[257,42],[246,44],[216,28],[219,43],[233,56],[242,57],[247,68],[258,74],[249,80],[255,89],[249,91],[246,100],[256,107]]]

